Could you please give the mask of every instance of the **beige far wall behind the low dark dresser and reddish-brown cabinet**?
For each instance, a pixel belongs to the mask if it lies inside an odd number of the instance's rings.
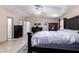
[[[57,18],[46,18],[46,17],[29,17],[28,18],[31,27],[34,25],[34,23],[41,23],[41,26],[43,27],[43,30],[48,30],[48,23],[58,23],[59,19]]]

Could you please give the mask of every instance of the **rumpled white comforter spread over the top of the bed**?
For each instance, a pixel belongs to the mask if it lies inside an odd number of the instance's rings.
[[[72,30],[41,31],[33,35],[32,46],[39,44],[72,44],[79,43],[79,34]]]

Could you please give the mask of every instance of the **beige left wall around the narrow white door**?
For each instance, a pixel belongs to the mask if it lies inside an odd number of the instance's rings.
[[[21,16],[14,14],[3,6],[0,6],[0,42],[6,41],[7,39],[7,16],[14,18],[14,24],[19,24]]]

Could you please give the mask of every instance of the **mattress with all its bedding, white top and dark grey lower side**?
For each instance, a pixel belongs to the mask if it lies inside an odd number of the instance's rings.
[[[42,31],[33,35],[32,47],[79,51],[79,34],[71,30]]]

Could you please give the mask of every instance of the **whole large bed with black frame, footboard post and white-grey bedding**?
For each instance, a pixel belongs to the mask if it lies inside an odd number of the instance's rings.
[[[77,18],[78,20],[78,16],[70,18],[70,20],[75,19],[75,18]],[[78,22],[74,23],[74,25],[75,24],[77,24],[77,26],[75,27],[75,30],[78,30]],[[52,31],[52,32],[41,31],[34,35],[31,32],[29,32],[28,33],[28,53],[32,53],[32,52],[39,52],[39,53],[74,53],[76,52],[76,53],[79,53],[79,39],[78,39],[79,33],[74,32],[74,26],[72,27],[69,27],[69,26],[70,24],[68,24],[68,21],[67,22],[65,21],[66,30],[59,30],[59,31]],[[54,38],[54,39],[52,40],[49,37]]]

